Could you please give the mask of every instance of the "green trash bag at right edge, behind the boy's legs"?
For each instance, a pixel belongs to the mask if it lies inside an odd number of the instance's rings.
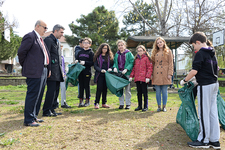
[[[218,109],[218,118],[222,128],[225,130],[225,101],[220,96],[220,91],[218,90],[217,94],[217,109]]]

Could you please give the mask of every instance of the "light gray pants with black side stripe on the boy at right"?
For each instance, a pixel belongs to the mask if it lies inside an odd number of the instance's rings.
[[[198,115],[200,133],[198,141],[216,142],[220,138],[220,126],[217,111],[218,83],[198,85]]]

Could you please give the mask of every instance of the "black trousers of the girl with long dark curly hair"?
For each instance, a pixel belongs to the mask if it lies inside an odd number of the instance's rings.
[[[100,97],[102,94],[102,104],[106,104],[106,95],[107,95],[107,86],[106,86],[106,80],[105,80],[105,74],[101,73],[97,80],[97,91],[96,91],[96,97],[95,97],[95,104],[99,103]]]

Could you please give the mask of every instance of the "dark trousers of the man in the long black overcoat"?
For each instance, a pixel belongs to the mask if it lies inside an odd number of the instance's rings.
[[[45,96],[45,103],[43,106],[43,114],[48,114],[49,110],[54,111],[58,107],[57,98],[59,96],[59,81],[47,80],[47,92]]]

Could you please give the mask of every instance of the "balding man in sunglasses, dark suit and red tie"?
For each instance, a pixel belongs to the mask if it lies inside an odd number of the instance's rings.
[[[22,66],[22,75],[27,77],[27,94],[24,109],[24,125],[36,127],[41,101],[47,76],[51,76],[51,64],[49,63],[50,54],[41,36],[47,30],[47,25],[42,20],[38,20],[35,24],[34,31],[23,37],[21,45],[18,49],[18,58]]]

